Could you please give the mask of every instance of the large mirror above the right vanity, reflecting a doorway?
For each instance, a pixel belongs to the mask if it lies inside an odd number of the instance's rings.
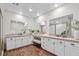
[[[71,21],[73,14],[55,18],[49,21],[49,34],[63,37],[72,36]]]

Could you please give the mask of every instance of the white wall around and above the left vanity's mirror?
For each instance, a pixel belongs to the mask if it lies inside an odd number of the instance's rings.
[[[33,18],[22,16],[14,12],[7,11],[6,9],[3,8],[2,8],[2,15],[3,15],[3,35],[12,33],[10,28],[11,20],[27,23],[28,29],[37,28],[36,21]]]

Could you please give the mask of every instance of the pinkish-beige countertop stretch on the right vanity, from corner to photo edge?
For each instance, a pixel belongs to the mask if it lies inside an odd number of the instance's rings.
[[[57,36],[48,35],[48,34],[33,34],[33,36],[45,37],[45,38],[50,38],[50,39],[56,39],[56,40],[63,40],[63,41],[69,41],[69,42],[77,42],[77,43],[79,43],[79,40],[75,39],[75,38],[57,37]]]

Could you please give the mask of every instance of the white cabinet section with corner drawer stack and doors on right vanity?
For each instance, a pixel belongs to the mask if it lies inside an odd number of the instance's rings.
[[[64,41],[49,38],[42,38],[41,41],[43,49],[56,55],[64,55]]]

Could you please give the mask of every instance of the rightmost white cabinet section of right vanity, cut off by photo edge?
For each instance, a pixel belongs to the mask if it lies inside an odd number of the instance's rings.
[[[79,56],[79,43],[65,41],[65,56]]]

